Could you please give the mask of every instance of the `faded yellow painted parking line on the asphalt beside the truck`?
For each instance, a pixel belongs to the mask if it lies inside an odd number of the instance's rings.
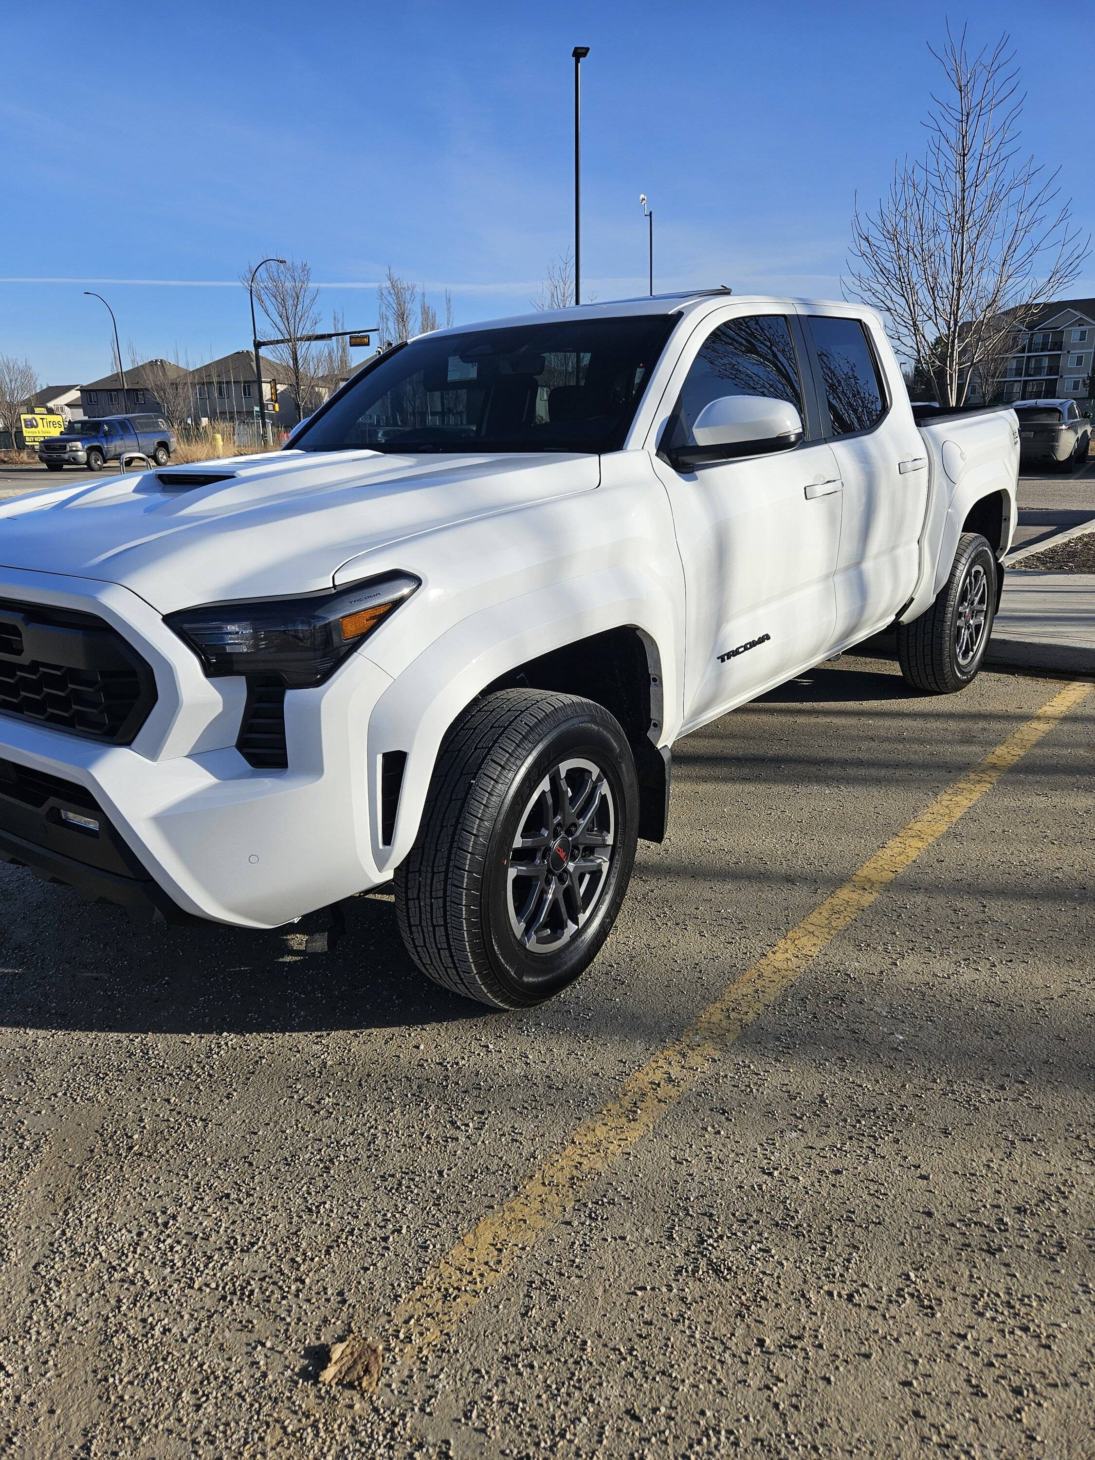
[[[456,1329],[479,1301],[558,1222],[588,1187],[635,1145],[656,1120],[685,1095],[737,1035],[807,968],[840,931],[870,907],[943,832],[953,826],[996,781],[1022,759],[1053,726],[1091,692],[1070,683],[991,750],[980,765],[948,787],[904,831],[790,930],[752,968],[660,1050],[558,1152],[534,1171],[515,1196],[489,1212],[425,1275],[391,1313],[375,1339],[352,1339],[345,1364],[324,1372],[328,1383],[353,1377],[369,1384],[378,1371],[420,1359]],[[365,1355],[365,1359],[362,1358]]]

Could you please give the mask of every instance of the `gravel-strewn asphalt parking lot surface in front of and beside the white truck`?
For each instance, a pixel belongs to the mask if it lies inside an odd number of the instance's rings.
[[[0,867],[3,1441],[1089,1454],[1080,696],[844,657],[688,737],[521,1015],[423,984],[387,896],[317,956]],[[349,1333],[371,1391],[318,1383]]]

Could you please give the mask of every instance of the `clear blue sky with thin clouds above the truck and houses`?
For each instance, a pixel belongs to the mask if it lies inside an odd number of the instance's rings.
[[[527,310],[572,237],[572,61],[583,66],[583,279],[840,292],[853,197],[873,200],[920,121],[946,15],[1012,34],[1023,146],[1092,226],[1079,6],[603,0],[54,0],[4,19],[0,352],[44,381],[110,368],[114,305],[143,359],[245,347],[235,280],[307,258],[324,312],[375,320],[387,264],[453,291],[457,323]],[[38,55],[35,64],[31,58]],[[1083,74],[1083,66],[1077,73]],[[1095,264],[1072,292],[1095,295]],[[200,280],[206,286],[88,280]],[[347,288],[350,282],[369,288]]]

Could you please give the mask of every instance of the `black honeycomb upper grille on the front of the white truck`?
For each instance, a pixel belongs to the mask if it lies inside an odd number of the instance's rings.
[[[128,745],[155,702],[152,669],[110,623],[0,602],[0,714]]]

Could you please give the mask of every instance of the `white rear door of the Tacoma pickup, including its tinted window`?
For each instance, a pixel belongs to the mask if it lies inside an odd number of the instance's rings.
[[[802,305],[802,315],[822,432],[844,483],[835,642],[848,644],[891,623],[915,590],[927,451],[866,324],[838,305]]]

